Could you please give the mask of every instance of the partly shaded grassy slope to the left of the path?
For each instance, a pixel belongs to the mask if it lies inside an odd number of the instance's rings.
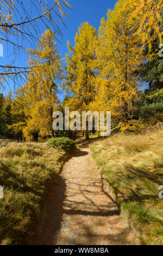
[[[10,143],[0,149],[0,243],[22,244],[40,216],[48,185],[66,154],[45,143]]]

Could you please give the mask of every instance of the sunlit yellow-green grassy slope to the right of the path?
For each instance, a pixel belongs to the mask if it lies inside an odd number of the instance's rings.
[[[90,145],[112,194],[140,244],[163,244],[163,130],[114,135]]]

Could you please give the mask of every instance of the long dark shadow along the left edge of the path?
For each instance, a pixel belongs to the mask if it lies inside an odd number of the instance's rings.
[[[36,225],[35,236],[30,237],[30,245],[53,245],[54,238],[61,227],[65,200],[66,183],[60,175],[57,176],[46,198],[46,218],[40,219]]]

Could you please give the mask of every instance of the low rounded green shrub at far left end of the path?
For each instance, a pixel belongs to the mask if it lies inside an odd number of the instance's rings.
[[[47,144],[53,148],[59,149],[70,149],[71,147],[74,147],[74,141],[66,137],[48,139]]]

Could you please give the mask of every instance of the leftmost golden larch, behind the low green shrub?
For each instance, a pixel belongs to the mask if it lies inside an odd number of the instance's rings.
[[[41,138],[51,132],[54,137],[52,115],[59,106],[57,83],[61,78],[62,68],[55,34],[50,29],[41,35],[37,50],[30,49],[28,52],[31,70],[27,84],[17,91],[18,102],[15,105],[23,105],[26,121],[22,131],[26,140],[32,141],[34,133],[38,133]]]

